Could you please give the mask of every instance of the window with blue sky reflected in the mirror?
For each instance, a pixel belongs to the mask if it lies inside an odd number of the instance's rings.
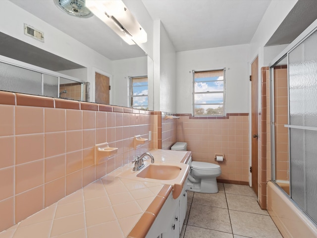
[[[131,79],[131,107],[149,109],[148,77],[130,77]]]

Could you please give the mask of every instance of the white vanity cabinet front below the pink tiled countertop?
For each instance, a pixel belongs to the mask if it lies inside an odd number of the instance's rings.
[[[177,199],[167,197],[146,238],[179,238],[187,211],[186,184]]]

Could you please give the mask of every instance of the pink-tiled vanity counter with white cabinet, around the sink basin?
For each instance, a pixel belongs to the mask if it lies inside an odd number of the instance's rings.
[[[180,177],[127,178],[127,171],[133,169],[130,163],[1,232],[0,237],[178,238],[187,210],[186,163],[191,152],[150,153],[155,158],[152,165],[179,167]],[[145,164],[151,165],[151,160]]]

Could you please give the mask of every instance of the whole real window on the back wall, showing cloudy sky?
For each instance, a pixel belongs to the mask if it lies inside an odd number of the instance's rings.
[[[225,69],[193,70],[194,116],[225,115]]]

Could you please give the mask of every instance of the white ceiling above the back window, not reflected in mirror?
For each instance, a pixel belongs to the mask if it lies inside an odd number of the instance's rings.
[[[271,0],[142,0],[175,50],[249,44]]]

